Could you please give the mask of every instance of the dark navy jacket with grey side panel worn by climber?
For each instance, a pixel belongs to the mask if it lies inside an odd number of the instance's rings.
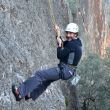
[[[81,40],[77,38],[71,41],[64,41],[63,46],[63,48],[57,48],[57,58],[60,62],[77,66],[82,56]]]

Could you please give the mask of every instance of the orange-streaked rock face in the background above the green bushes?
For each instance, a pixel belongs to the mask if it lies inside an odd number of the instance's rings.
[[[110,47],[110,0],[77,2],[79,23],[84,28],[85,48],[95,50],[103,57],[105,49]]]

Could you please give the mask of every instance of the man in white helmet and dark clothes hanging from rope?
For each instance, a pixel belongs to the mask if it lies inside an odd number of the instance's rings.
[[[62,42],[60,28],[55,25],[57,58],[59,64],[46,70],[36,71],[34,76],[28,78],[17,87],[12,85],[12,93],[16,101],[38,98],[46,88],[59,79],[68,80],[75,75],[76,67],[82,56],[82,43],[78,38],[79,27],[76,23],[69,23],[65,29],[66,41]]]

